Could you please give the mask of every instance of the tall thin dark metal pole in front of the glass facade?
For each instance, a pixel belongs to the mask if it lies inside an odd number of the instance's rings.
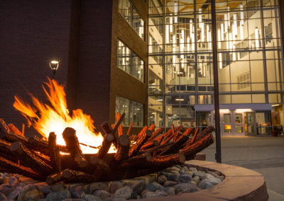
[[[215,0],[211,0],[212,18],[212,54],[213,54],[213,74],[214,74],[214,108],[215,108],[215,133],[216,133],[216,154],[215,159],[222,163],[221,159],[221,135],[220,135],[220,112],[219,112],[219,80],[217,63],[217,35],[216,35],[216,11]]]

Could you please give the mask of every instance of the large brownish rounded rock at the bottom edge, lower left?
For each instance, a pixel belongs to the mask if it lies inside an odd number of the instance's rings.
[[[45,198],[44,194],[35,185],[26,185],[18,195],[18,201],[37,201]]]

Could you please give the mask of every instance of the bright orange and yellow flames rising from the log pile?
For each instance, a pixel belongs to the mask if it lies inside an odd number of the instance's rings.
[[[47,91],[43,86],[49,105],[41,103],[31,95],[33,105],[28,105],[15,96],[13,107],[19,110],[28,120],[28,125],[35,128],[43,137],[48,137],[50,132],[57,134],[57,144],[65,145],[62,132],[65,127],[72,127],[76,130],[78,141],[82,144],[89,144],[92,147],[99,147],[102,144],[103,137],[100,132],[95,131],[94,121],[90,115],[83,113],[81,109],[73,110],[72,117],[67,109],[66,94],[64,86],[58,84],[55,80],[48,79],[45,83],[48,86]],[[96,154],[99,149],[94,149],[80,144],[84,154]],[[111,146],[109,152],[116,152],[114,146]]]

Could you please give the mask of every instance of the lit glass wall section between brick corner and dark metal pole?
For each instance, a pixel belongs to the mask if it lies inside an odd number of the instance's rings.
[[[149,3],[148,122],[195,127],[194,105],[213,102],[210,3]]]

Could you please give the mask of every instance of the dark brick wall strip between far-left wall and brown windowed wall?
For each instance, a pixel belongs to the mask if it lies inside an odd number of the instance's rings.
[[[81,4],[77,108],[91,115],[101,130],[109,120],[112,0]]]

